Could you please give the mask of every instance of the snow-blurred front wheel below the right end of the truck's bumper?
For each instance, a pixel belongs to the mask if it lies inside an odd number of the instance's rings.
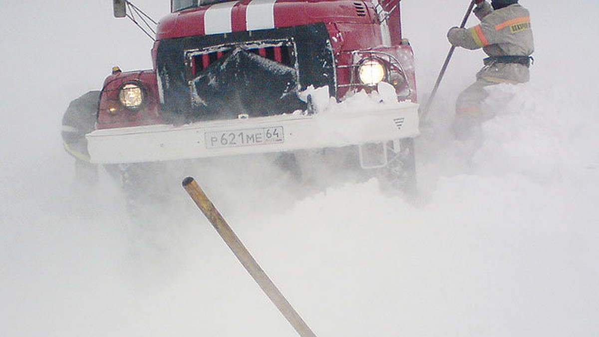
[[[383,191],[400,192],[407,197],[415,196],[417,188],[414,140],[407,138],[388,142],[387,158],[387,165],[379,171]]]

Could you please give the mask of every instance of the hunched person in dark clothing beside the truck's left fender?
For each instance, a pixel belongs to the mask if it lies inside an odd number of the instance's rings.
[[[85,135],[96,126],[96,115],[100,101],[99,91],[90,91],[71,101],[62,116],[62,141],[69,155],[75,158],[75,175],[83,182],[98,180],[98,166],[89,163]]]

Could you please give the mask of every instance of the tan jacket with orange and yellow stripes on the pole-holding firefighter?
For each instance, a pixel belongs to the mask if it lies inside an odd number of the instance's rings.
[[[525,61],[534,50],[528,10],[519,4],[493,10],[483,1],[477,5],[474,14],[480,19],[479,25],[468,29],[452,28],[447,38],[453,46],[482,48],[490,56],[485,59],[485,67],[479,71],[477,79],[495,83],[528,82],[530,64]]]

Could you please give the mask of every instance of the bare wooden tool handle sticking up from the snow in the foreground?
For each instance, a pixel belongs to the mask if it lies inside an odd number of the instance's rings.
[[[258,262],[254,260],[246,247],[241,243],[234,231],[226,223],[225,219],[220,215],[219,211],[214,207],[214,204],[208,199],[204,191],[199,187],[198,183],[192,177],[186,177],[183,180],[183,188],[189,196],[195,201],[202,213],[208,218],[208,221],[213,225],[214,229],[219,233],[220,237],[225,240],[226,245],[231,248],[237,260],[243,264],[247,272],[250,273],[254,281],[258,283],[260,288],[268,296],[268,298],[277,306],[277,309],[285,316],[286,320],[291,323],[295,331],[301,337],[316,337],[314,332],[308,327],[304,320],[299,316],[297,311],[291,306],[288,300],[283,296],[279,289],[274,285],[273,281],[268,278],[268,275],[262,270]]]

